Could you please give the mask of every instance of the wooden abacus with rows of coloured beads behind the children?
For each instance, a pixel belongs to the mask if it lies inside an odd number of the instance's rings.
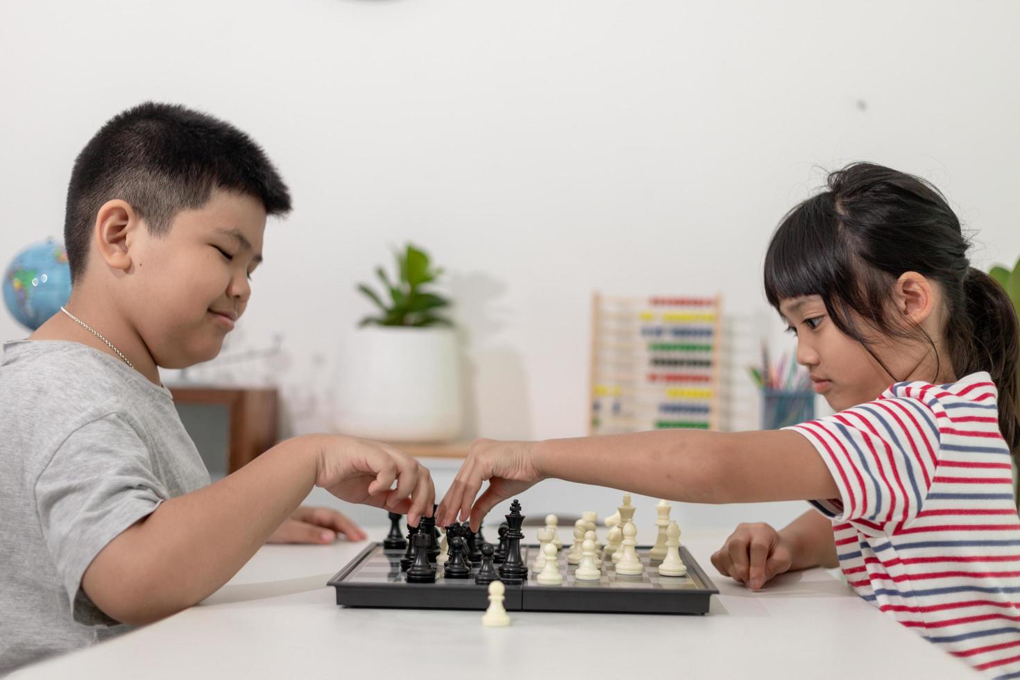
[[[619,311],[609,312],[607,307],[632,307],[633,316],[630,317],[631,312],[627,311],[620,313]],[[702,310],[700,313],[692,312],[692,309]],[[684,310],[684,311],[678,311]],[[631,359],[629,360],[633,364],[638,364],[642,359],[648,358],[649,361],[652,360],[650,354],[660,351],[656,349],[650,349],[648,346],[655,345],[656,343],[649,339],[641,334],[641,330],[644,328],[643,323],[647,323],[660,314],[665,323],[675,325],[697,325],[698,327],[706,327],[706,325],[711,326],[711,359],[709,371],[702,379],[699,376],[698,380],[685,381],[680,376],[663,376],[664,382],[660,382],[657,377],[654,376],[654,371],[651,371],[652,366],[643,366],[639,369],[633,370],[629,375],[626,371],[616,374],[607,375],[604,368],[604,354],[605,349],[608,347],[607,335],[604,324],[607,322],[607,318],[610,315],[615,315],[619,317],[620,321],[626,323],[635,323],[639,327],[639,334],[634,337],[625,338],[622,345],[616,345],[615,349],[619,351],[621,348],[625,350],[627,346],[631,346]],[[711,318],[704,318],[710,315]],[[685,316],[691,316],[691,319],[685,319]],[[672,318],[670,318],[672,317]],[[608,420],[612,423],[613,427],[608,431],[611,432],[621,432],[621,431],[638,431],[643,429],[657,429],[665,427],[698,427],[701,429],[720,429],[720,387],[722,382],[722,296],[715,296],[713,298],[704,297],[664,297],[656,296],[650,298],[638,298],[638,297],[609,297],[603,296],[599,293],[593,294],[592,300],[592,356],[590,365],[590,382],[589,382],[589,421],[588,428],[589,434],[600,434],[605,433],[600,431],[603,427],[604,422]],[[647,346],[643,346],[643,343],[647,343]],[[659,343],[663,345],[664,343]],[[676,343],[676,345],[683,345],[682,343]],[[682,352],[683,350],[681,350]],[[675,377],[675,380],[670,378]],[[692,376],[693,377],[693,376]],[[621,386],[622,382],[628,383],[626,387],[626,394],[624,394],[624,387]],[[670,384],[672,382],[672,384]],[[692,387],[691,384],[697,384],[698,386]],[[684,386],[685,385],[685,386]],[[649,417],[620,417],[615,415],[610,415],[608,418],[605,414],[599,412],[598,404],[601,404],[600,400],[605,397],[605,391],[612,393],[618,400],[618,403],[622,401],[639,402],[642,396],[646,399],[656,399],[659,402],[662,400],[683,400],[678,402],[678,405],[685,403],[701,403],[707,405],[708,417],[705,421],[692,421],[690,425],[685,424],[685,421],[676,420],[666,421],[665,419],[656,420],[655,418]],[[709,394],[699,394],[708,391]],[[657,404],[658,409],[666,402]]]

